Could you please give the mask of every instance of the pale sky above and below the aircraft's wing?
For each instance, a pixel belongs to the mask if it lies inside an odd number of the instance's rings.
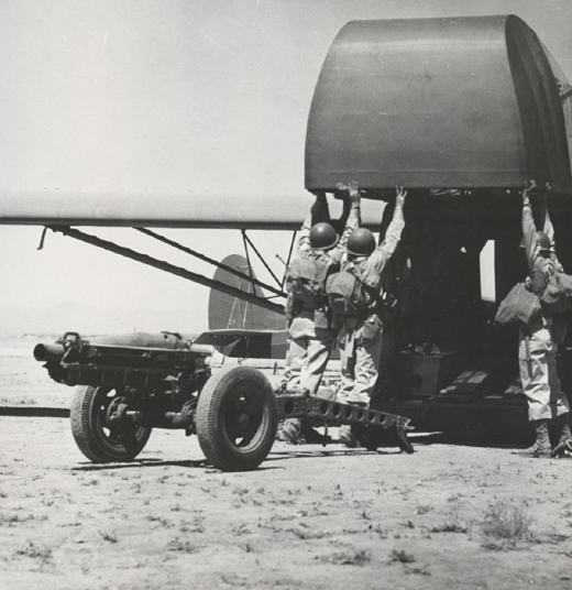
[[[348,21],[506,13],[572,79],[570,0],[0,0],[0,198],[44,187],[304,193],[314,88]],[[91,232],[212,275],[133,230]],[[238,231],[164,233],[219,260],[243,252]],[[173,309],[168,329],[207,327],[206,287],[59,234],[38,251],[40,237],[0,226],[0,334],[54,305],[122,309],[148,330],[165,328],[150,310]],[[282,273],[290,236],[251,238]]]

